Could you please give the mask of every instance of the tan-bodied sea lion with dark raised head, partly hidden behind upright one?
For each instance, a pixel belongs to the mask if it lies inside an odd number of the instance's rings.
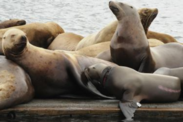
[[[148,28],[152,21],[156,18],[158,14],[158,9],[150,9],[150,8],[142,8],[138,10],[141,22],[143,24],[145,33],[147,33]],[[101,31],[98,33],[91,34],[85,38],[83,38],[77,45],[76,50],[79,50],[81,48],[87,47],[89,45],[93,45],[96,43],[111,41],[116,27],[118,25],[118,21],[115,20],[108,24],[106,27],[104,27]]]

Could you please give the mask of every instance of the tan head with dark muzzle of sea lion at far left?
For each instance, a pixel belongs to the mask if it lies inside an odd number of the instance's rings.
[[[2,39],[4,54],[18,55],[22,53],[27,45],[26,34],[19,29],[9,29],[5,32]]]

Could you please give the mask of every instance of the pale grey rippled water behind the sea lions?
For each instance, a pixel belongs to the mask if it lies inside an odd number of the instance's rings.
[[[121,1],[136,8],[158,8],[159,15],[150,30],[170,34],[183,42],[182,0]],[[19,18],[28,23],[55,21],[67,32],[87,36],[115,19],[108,8],[108,2],[109,0],[0,0],[0,20]]]

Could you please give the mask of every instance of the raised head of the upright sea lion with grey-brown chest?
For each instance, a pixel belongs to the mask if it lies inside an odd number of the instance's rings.
[[[136,8],[122,2],[110,1],[109,8],[118,20],[121,20],[123,17],[126,16],[138,15]]]

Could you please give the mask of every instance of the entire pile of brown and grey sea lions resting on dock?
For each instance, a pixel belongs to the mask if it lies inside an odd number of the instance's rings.
[[[65,33],[54,22],[0,29],[6,57],[0,57],[0,109],[34,97],[91,95],[119,99],[131,120],[141,100],[177,101],[183,45],[148,30],[158,10],[113,1],[109,8],[117,20],[88,37]]]

